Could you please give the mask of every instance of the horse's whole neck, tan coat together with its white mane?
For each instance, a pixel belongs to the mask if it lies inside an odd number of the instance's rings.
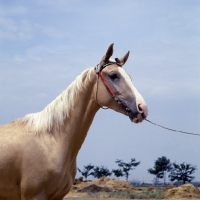
[[[61,151],[76,156],[99,109],[96,78],[93,69],[85,70],[43,111],[25,116],[23,122],[34,132],[54,136]]]

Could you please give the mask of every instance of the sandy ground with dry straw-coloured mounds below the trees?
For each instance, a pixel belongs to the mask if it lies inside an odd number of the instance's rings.
[[[160,190],[160,189],[159,189]],[[161,191],[163,189],[161,188]],[[100,179],[96,179],[94,181],[83,181],[77,180],[75,184],[72,186],[70,192],[65,197],[65,200],[119,200],[121,198],[107,198],[109,197],[110,192],[128,192],[129,194],[139,194],[139,193],[147,193],[148,192],[158,192],[158,188],[153,186],[150,187],[133,187],[129,182],[110,179],[107,177],[102,177]],[[94,196],[94,198],[88,195],[98,194]],[[96,198],[99,197],[99,198]],[[126,196],[129,198],[129,196]],[[143,197],[144,198],[144,197]],[[168,186],[164,188],[162,199],[169,200],[200,200],[200,188],[194,187],[192,184],[185,184],[179,187]],[[139,199],[135,199],[139,200]],[[149,199],[155,200],[155,199]]]

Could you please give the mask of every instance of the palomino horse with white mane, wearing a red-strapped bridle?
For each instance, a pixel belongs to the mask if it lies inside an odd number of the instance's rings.
[[[106,106],[141,122],[147,106],[111,44],[100,63],[86,69],[41,112],[0,126],[0,199],[61,200],[76,174],[76,157],[92,120]]]

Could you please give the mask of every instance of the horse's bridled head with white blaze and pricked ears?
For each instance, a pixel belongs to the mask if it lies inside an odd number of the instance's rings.
[[[113,54],[111,44],[100,64],[95,68],[98,75],[96,101],[100,106],[107,106],[117,112],[128,115],[132,122],[142,122],[147,117],[147,105],[133,86],[130,76],[122,68],[129,52],[122,58],[110,59]]]

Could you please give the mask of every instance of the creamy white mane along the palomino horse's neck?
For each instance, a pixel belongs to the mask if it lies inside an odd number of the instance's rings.
[[[83,91],[83,80],[90,81],[92,70],[84,70],[55,100],[38,113],[28,114],[23,118],[28,127],[34,128],[36,132],[50,132],[53,125],[63,124],[63,120],[69,117],[70,110],[74,107],[74,99]]]

